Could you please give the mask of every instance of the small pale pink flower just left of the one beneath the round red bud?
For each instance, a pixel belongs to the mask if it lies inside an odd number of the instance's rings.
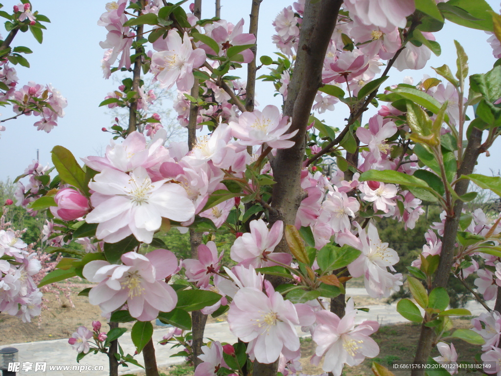
[[[322,208],[331,213],[330,226],[335,232],[349,230],[350,218],[354,218],[360,210],[360,203],[344,192],[329,192]]]

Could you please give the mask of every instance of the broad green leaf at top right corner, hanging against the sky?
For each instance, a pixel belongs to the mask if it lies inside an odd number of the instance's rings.
[[[438,9],[442,9],[446,4],[445,8],[447,11],[442,11],[442,14],[446,20],[453,22],[454,24],[465,26],[471,29],[478,29],[484,31],[492,32],[494,27],[492,25],[492,18],[489,12],[492,12],[492,8],[487,4],[485,0],[449,0],[447,3],[438,4]],[[467,14],[478,19],[478,21],[467,20],[464,14],[458,16],[456,13],[452,13],[450,6],[455,6],[465,11]]]

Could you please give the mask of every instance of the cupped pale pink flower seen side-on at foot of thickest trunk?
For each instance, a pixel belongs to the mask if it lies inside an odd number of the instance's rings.
[[[288,253],[274,253],[273,250],[282,240],[284,223],[277,221],[268,230],[262,219],[251,221],[250,232],[237,238],[231,246],[230,256],[233,261],[245,267],[263,268],[277,265],[275,261],[289,265],[292,256]]]

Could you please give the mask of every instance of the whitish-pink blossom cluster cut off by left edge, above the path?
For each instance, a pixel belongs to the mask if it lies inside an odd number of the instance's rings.
[[[32,246],[21,240],[22,231],[8,226],[0,219],[0,312],[31,322],[42,309],[42,293],[33,280],[41,264]]]

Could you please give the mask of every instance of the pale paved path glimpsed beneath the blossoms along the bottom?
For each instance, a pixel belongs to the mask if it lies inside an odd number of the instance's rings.
[[[347,295],[350,296],[366,296],[367,292],[364,288],[348,288]],[[492,302],[493,304],[493,302]],[[367,306],[370,308],[369,312],[359,311],[358,320],[376,320],[381,324],[392,324],[397,322],[405,322],[406,320],[398,314],[396,311],[396,304],[385,304],[385,305],[371,305]],[[469,302],[466,306],[467,309],[471,311],[473,315],[479,315],[485,312],[485,309],[481,307],[478,303]],[[153,333],[154,343],[158,342],[168,329],[155,329]],[[298,333],[301,336],[308,336],[308,333],[303,333],[300,328],[298,328]],[[217,339],[221,342],[235,342],[236,338],[230,333],[228,324],[226,322],[209,324],[205,328],[205,336],[208,338]],[[122,346],[125,353],[134,353],[134,345],[130,338],[130,332],[126,332],[120,338],[120,345]],[[35,376],[76,376],[76,375],[89,375],[89,376],[106,376],[108,374],[108,358],[102,353],[96,355],[89,354],[84,357],[80,363],[76,362],[76,351],[72,350],[71,346],[68,344],[68,339],[56,339],[51,341],[38,341],[38,342],[28,342],[28,343],[13,343],[11,345],[5,345],[5,347],[16,347],[19,349],[19,361],[21,365],[23,362],[32,362],[35,368],[36,362],[47,362],[47,369],[43,371],[35,371],[34,369],[29,371],[23,371],[22,369],[18,372],[18,376],[24,375],[35,375]],[[4,347],[4,346],[3,346]],[[182,361],[180,357],[169,357],[170,355],[179,351],[179,348],[170,349],[168,345],[155,345],[156,357],[159,366],[167,366]],[[142,356],[136,356],[140,363],[143,363]],[[49,370],[51,365],[103,365],[104,371],[94,371],[94,370]],[[121,367],[119,368],[120,374],[127,374],[139,371],[140,368],[132,366],[130,368]]]

